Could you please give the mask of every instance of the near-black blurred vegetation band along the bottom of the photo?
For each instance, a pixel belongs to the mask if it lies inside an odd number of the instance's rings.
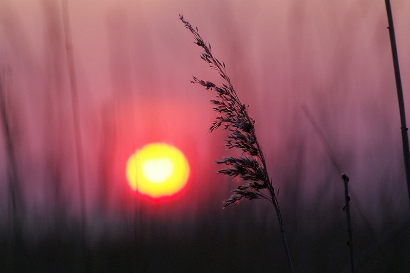
[[[285,223],[296,271],[350,270],[343,196],[337,201],[331,208],[321,207],[317,202],[311,212],[303,210],[303,213],[286,206],[286,215],[293,219]],[[146,218],[145,223],[137,227],[139,235],[136,237],[132,228],[128,228],[128,235],[89,240],[85,255],[81,252],[79,224],[60,232],[48,232],[35,240],[26,235],[13,241],[10,234],[3,233],[0,271],[267,272],[272,267],[275,272],[289,270],[279,232],[273,232],[277,223],[272,220],[272,208],[269,204],[251,203],[204,211],[194,225],[185,220],[179,230],[167,228],[166,221]],[[255,216],[256,210],[261,212]],[[332,217],[330,221],[328,216],[332,214],[339,217]],[[362,221],[355,220],[357,272],[406,272],[410,269],[408,224],[403,226],[401,219],[384,223],[376,235],[379,239],[375,240],[375,235]],[[403,228],[397,230],[397,226]],[[383,237],[386,240],[381,242]],[[366,255],[362,254],[366,251],[370,255],[363,260]]]

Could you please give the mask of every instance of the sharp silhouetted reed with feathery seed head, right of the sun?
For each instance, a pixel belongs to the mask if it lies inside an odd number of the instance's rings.
[[[272,180],[269,178],[265,158],[262,149],[258,143],[255,134],[255,121],[248,115],[247,107],[241,104],[237,96],[231,80],[226,72],[225,64],[220,63],[211,53],[211,45],[203,42],[198,34],[198,28],[193,29],[188,21],[179,15],[179,19],[185,27],[191,31],[195,37],[194,43],[203,49],[201,59],[216,70],[227,84],[222,83],[221,86],[216,86],[209,81],[198,80],[193,77],[192,83],[200,84],[207,90],[215,90],[216,99],[211,100],[213,109],[220,115],[216,117],[216,121],[212,123],[209,131],[222,126],[224,130],[229,131],[228,139],[225,141],[226,147],[239,148],[242,150],[241,157],[224,157],[217,161],[217,164],[225,165],[226,168],[218,170],[219,173],[229,175],[234,178],[241,178],[243,182],[247,182],[238,186],[232,192],[234,194],[226,201],[224,207],[244,199],[267,199],[275,207],[276,216],[278,218],[279,228],[282,235],[283,244],[288,258],[291,272],[294,272],[291,255],[286,242],[285,232],[283,230],[282,216],[280,213],[277,194],[272,186]],[[248,182],[249,181],[249,182]],[[264,190],[262,192],[262,190]]]

